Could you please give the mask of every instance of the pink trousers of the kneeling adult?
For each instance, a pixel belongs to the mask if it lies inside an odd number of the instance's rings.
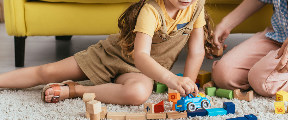
[[[213,62],[212,77],[219,88],[254,89],[261,96],[273,97],[280,90],[288,91],[288,73],[274,73],[279,60],[274,57],[282,43],[270,40],[267,27]]]

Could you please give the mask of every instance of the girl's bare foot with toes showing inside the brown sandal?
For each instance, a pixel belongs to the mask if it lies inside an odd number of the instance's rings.
[[[69,86],[68,85],[61,86],[60,88],[61,88],[61,92],[59,95],[59,100],[69,98]],[[54,90],[52,88],[49,88],[45,91],[45,97],[44,98],[45,98],[46,102],[51,102],[53,96],[54,96]]]

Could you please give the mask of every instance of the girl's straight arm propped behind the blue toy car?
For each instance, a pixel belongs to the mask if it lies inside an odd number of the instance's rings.
[[[183,76],[189,77],[194,83],[205,55],[203,36],[204,30],[201,27],[193,29],[188,39],[188,54]],[[197,93],[195,92],[195,94]]]

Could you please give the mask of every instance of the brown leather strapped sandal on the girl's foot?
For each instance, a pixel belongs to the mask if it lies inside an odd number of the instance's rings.
[[[79,85],[78,83],[75,83],[74,81],[72,80],[67,80],[67,81],[64,81],[62,83],[49,83],[47,85],[45,85],[42,89],[42,92],[41,92],[41,100],[43,102],[46,102],[45,101],[45,91],[49,88],[52,88],[53,91],[54,91],[54,96],[52,97],[52,100],[51,102],[47,102],[47,103],[57,103],[59,101],[59,95],[61,93],[61,88],[60,86],[65,86],[65,85],[68,85],[69,86],[69,98],[75,98],[75,85]]]

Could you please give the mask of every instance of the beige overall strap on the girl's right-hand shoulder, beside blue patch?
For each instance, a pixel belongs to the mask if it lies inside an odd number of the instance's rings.
[[[186,30],[183,32],[183,35],[188,35],[193,30],[193,24],[197,20],[198,16],[200,15],[203,7],[205,4],[205,0],[198,0],[196,7],[193,12],[193,16],[191,21],[185,26]]]

